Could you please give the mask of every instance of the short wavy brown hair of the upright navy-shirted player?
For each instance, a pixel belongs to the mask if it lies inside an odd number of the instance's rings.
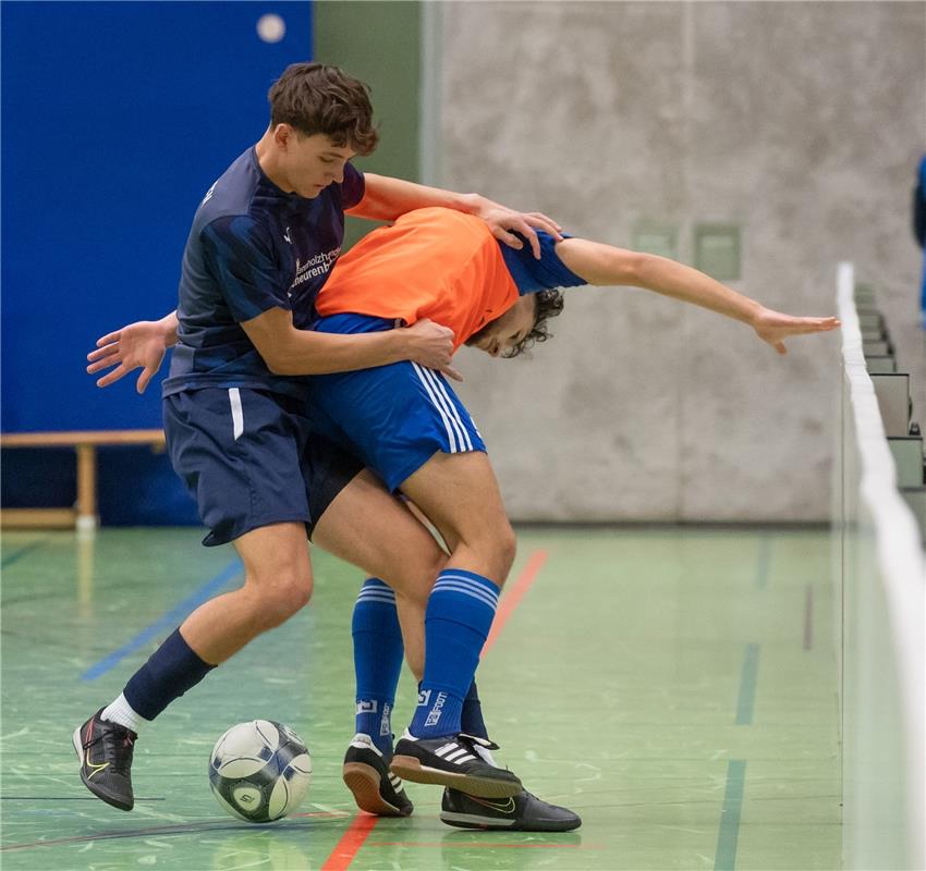
[[[293,63],[267,94],[270,124],[290,124],[306,136],[324,133],[338,147],[368,155],[379,142],[369,88],[326,63]]]

